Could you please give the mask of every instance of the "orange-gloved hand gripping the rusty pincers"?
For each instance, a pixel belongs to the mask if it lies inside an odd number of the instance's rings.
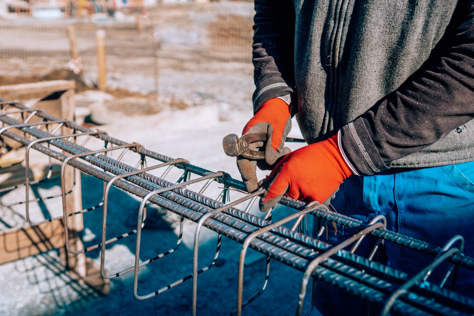
[[[261,170],[272,170],[278,158],[290,153],[284,147],[285,139],[292,129],[292,118],[288,104],[282,99],[274,98],[266,101],[248,121],[242,135],[247,133],[266,133],[267,141],[252,143],[249,149],[261,148],[265,152],[264,160],[252,160],[243,156],[237,157],[237,167],[242,175],[246,189],[253,192],[258,188],[256,166]]]

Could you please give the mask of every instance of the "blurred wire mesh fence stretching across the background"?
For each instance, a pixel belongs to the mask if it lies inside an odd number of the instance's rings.
[[[254,11],[246,4],[185,2],[111,12],[110,3],[105,2],[89,18],[77,18],[67,6],[60,10],[72,13],[56,19],[20,12],[15,18],[0,20],[1,84],[21,82],[18,78],[40,81],[52,73],[56,78],[47,79],[62,79],[57,78],[58,70],[81,71],[85,81],[96,83],[99,29],[106,32],[107,81],[111,89],[153,93],[166,82],[166,70],[177,75],[219,71],[225,68],[221,63],[250,64]],[[80,57],[75,62],[67,35],[71,26]],[[160,70],[165,71],[161,83]]]

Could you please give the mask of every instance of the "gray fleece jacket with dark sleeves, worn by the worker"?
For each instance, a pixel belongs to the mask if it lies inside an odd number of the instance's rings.
[[[470,0],[255,0],[254,110],[291,93],[356,173],[474,160]]]

